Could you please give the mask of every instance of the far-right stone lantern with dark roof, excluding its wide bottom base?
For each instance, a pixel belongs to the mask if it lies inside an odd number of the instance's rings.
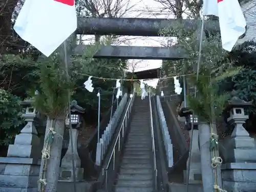
[[[249,118],[244,110],[251,105],[252,101],[246,102],[236,96],[233,96],[228,101],[228,106],[225,109],[228,113],[227,122],[233,125],[234,129],[230,139],[225,144],[225,147],[228,149],[225,158],[226,162],[250,161],[252,157],[248,150],[249,148],[255,147],[255,142],[243,126],[245,121]]]

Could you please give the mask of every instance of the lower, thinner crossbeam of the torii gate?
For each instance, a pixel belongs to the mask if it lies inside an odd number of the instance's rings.
[[[85,45],[77,45],[75,54],[83,54]],[[179,60],[188,58],[177,47],[102,46],[94,58]]]

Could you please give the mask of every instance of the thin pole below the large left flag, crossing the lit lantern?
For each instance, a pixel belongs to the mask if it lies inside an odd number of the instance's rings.
[[[67,54],[67,42],[66,40],[63,42],[63,48],[64,48],[64,62],[65,62],[65,71],[66,71],[66,77],[68,82],[70,82],[70,76],[69,76],[69,68],[68,68],[68,54]],[[72,169],[73,169],[73,179],[74,179],[74,192],[76,192],[76,172],[75,172],[75,159],[74,159],[74,141],[72,137],[72,125],[70,121],[71,116],[71,109],[70,109],[70,100],[71,100],[71,94],[70,90],[68,91],[68,118],[69,118],[69,134],[70,134],[70,142],[71,142],[71,153],[72,153]]]

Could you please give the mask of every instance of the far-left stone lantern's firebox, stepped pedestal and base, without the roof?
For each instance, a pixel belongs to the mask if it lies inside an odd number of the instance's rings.
[[[35,110],[27,110],[23,117],[27,124],[9,145],[7,157],[0,157],[0,191],[37,192],[40,151]]]

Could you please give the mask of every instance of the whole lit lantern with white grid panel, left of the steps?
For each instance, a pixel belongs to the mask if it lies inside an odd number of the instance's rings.
[[[72,140],[73,143],[71,143],[71,135],[69,139],[69,146],[68,146],[68,151],[63,157],[61,161],[61,167],[60,167],[60,175],[59,179],[60,180],[66,180],[66,181],[73,181],[74,176],[73,176],[73,168],[72,168],[72,148],[71,144],[73,144],[74,148],[74,160],[75,160],[75,177],[76,180],[82,180],[83,179],[83,168],[81,168],[81,161],[77,153],[77,137],[78,137],[78,132],[83,127],[84,120],[82,118],[82,114],[84,114],[84,109],[81,108],[77,104],[75,100],[71,102],[71,116],[70,116],[70,123],[72,126]]]

